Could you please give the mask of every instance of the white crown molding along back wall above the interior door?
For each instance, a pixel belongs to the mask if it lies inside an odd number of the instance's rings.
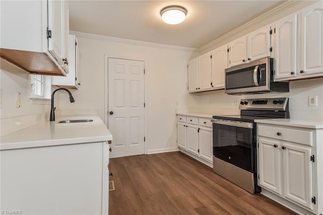
[[[176,50],[181,50],[181,51],[196,51],[197,50],[197,48],[189,48],[189,47],[182,47],[182,46],[176,46],[176,45],[166,45],[166,44],[159,44],[159,43],[153,43],[153,42],[123,39],[123,38],[117,38],[117,37],[102,36],[102,35],[97,35],[97,34],[82,33],[82,32],[77,32],[77,31],[70,31],[69,33],[76,35],[78,37],[83,37],[83,38],[88,38],[88,39],[98,39],[98,40],[119,42],[119,43],[131,44],[131,45],[141,45],[141,46],[156,47],[156,48],[176,49]]]

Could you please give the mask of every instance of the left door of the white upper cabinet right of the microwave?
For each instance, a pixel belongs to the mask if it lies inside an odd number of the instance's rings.
[[[297,71],[297,14],[287,16],[275,27],[275,79],[288,79]]]

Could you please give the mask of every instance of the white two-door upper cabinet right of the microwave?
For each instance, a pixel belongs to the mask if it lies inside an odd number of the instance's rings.
[[[274,24],[275,80],[323,76],[323,2]]]

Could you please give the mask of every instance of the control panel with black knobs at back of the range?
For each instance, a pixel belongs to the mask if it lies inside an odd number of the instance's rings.
[[[288,98],[256,98],[241,99],[240,110],[285,111]]]

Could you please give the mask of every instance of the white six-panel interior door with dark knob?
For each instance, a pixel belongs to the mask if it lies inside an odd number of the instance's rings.
[[[144,62],[108,59],[110,157],[144,154]]]

